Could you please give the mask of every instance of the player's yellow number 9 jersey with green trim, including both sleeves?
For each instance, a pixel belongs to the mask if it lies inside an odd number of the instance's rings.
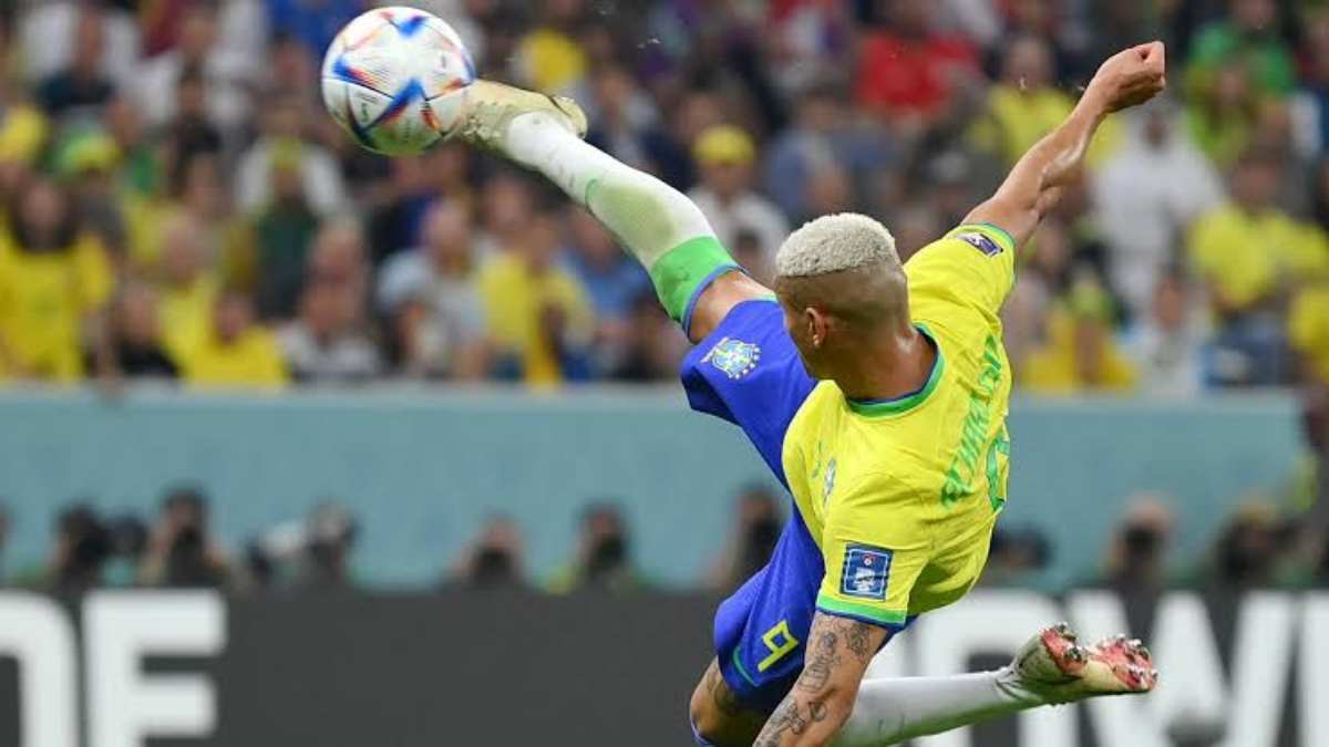
[[[962,597],[1006,502],[1011,374],[998,310],[1010,235],[956,229],[906,265],[914,324],[936,347],[926,383],[855,401],[820,381],[789,424],[783,467],[825,576],[817,609],[880,625]]]

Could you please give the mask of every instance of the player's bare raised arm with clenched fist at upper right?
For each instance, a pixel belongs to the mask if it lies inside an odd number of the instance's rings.
[[[1112,112],[1154,98],[1166,85],[1162,41],[1132,47],[1108,57],[1090,81],[1084,96],[1059,128],[1026,153],[1001,189],[965,218],[965,223],[991,223],[1023,246],[1043,217],[1061,199],[1084,165],[1084,154],[1098,126]]]

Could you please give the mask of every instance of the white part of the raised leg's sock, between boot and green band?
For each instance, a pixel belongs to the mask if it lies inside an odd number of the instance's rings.
[[[505,146],[589,209],[646,270],[674,247],[715,234],[687,195],[583,142],[548,113],[514,118]]]

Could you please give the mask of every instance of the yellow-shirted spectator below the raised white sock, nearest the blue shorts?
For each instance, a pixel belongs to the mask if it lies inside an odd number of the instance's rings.
[[[595,315],[586,290],[557,263],[558,223],[545,211],[477,279],[501,376],[550,387],[590,375]]]

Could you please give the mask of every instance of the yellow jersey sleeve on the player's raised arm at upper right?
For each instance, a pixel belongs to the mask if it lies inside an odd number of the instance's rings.
[[[1015,241],[991,223],[966,223],[908,263],[910,295],[948,298],[995,315],[1015,284]]]

